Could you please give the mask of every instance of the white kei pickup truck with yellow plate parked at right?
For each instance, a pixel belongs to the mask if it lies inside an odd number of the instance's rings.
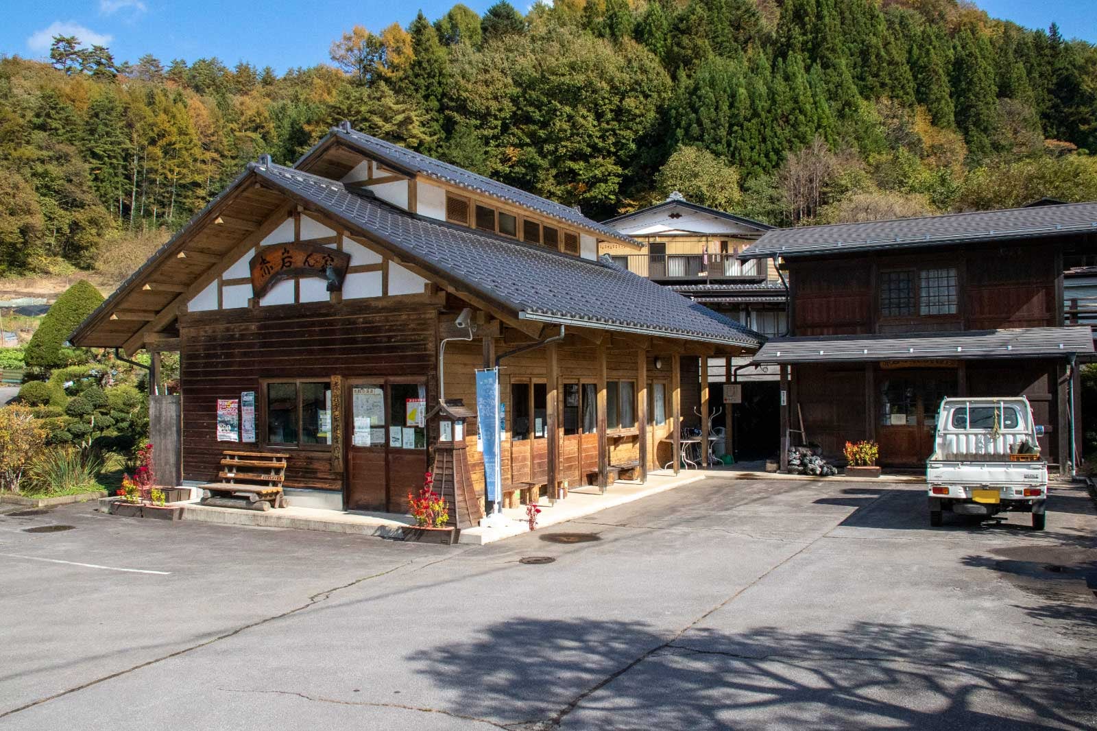
[[[1028,398],[943,398],[926,483],[930,526],[940,526],[946,510],[1016,511],[1031,513],[1032,528],[1043,530],[1048,463]]]

